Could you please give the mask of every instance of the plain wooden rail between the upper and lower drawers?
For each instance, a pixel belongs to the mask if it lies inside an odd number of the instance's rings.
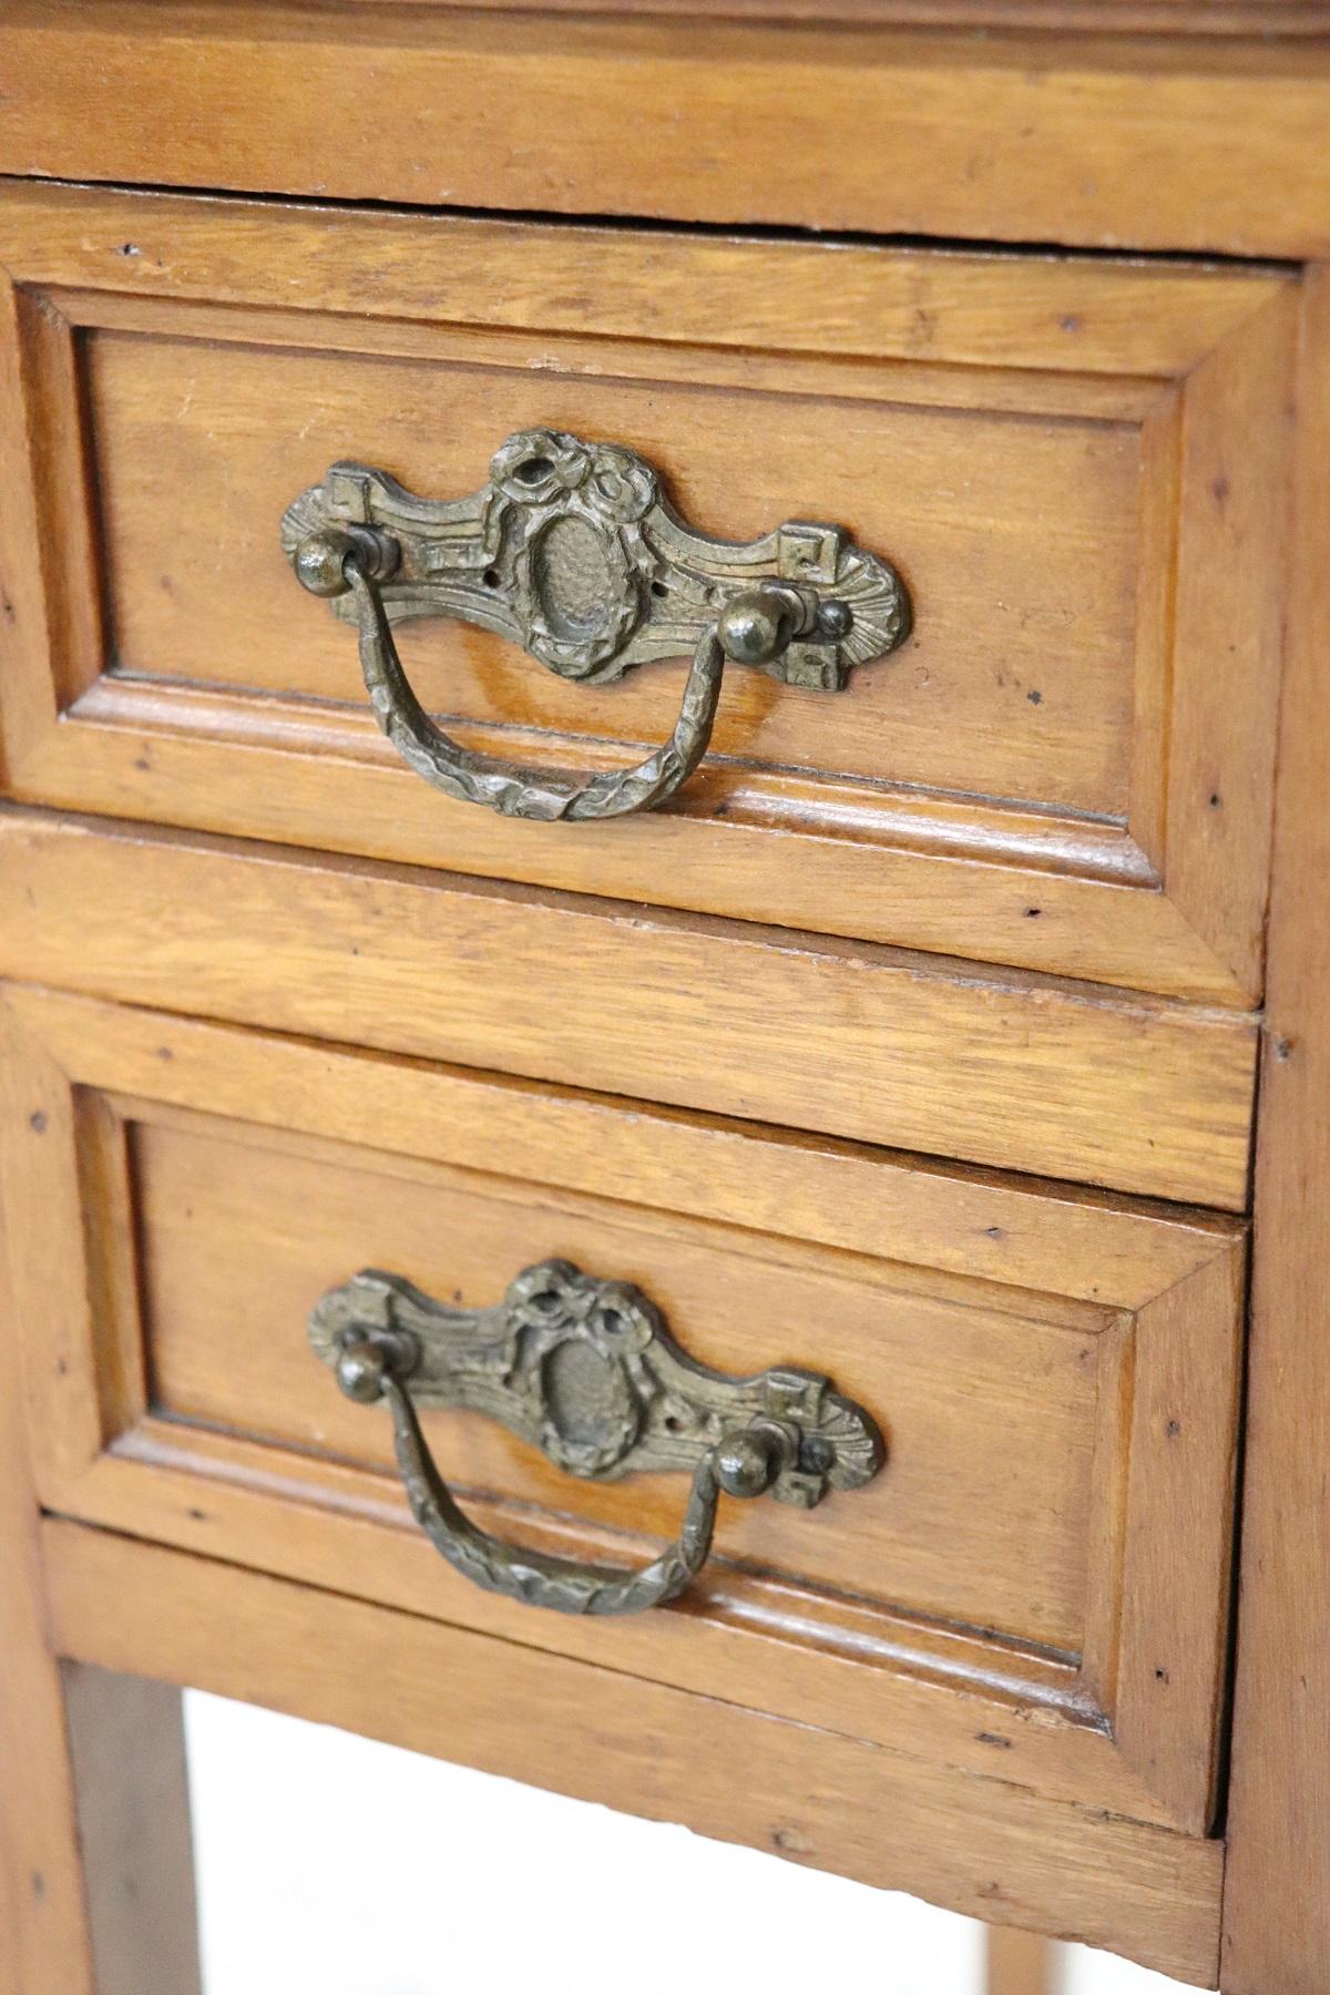
[[[1240,1015],[590,898],[0,814],[0,972],[1238,1209]]]

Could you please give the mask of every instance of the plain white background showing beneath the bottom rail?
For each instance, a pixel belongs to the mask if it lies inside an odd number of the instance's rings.
[[[199,1692],[185,1724],[205,1995],[983,1995],[983,1927],[917,1899]],[[1057,1955],[1057,1995],[1186,1995]]]

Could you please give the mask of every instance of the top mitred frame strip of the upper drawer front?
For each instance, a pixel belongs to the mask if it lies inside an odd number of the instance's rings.
[[[1003,371],[1037,369],[1103,379],[1105,393],[1117,383],[1125,413],[1125,381],[1188,373],[1288,281],[1268,265],[626,231],[30,180],[4,180],[0,194],[4,261],[38,291],[263,305],[289,313],[287,325],[347,311],[401,339],[463,325],[578,333],[622,341],[612,359],[626,369],[632,349],[652,341],[750,359],[782,353],[786,365],[835,355],[897,369],[985,367],[995,377],[973,393],[999,407],[1019,391]],[[331,349],[347,343],[349,329],[341,339],[335,327],[317,331]],[[909,385],[897,369],[891,383]],[[855,383],[847,371],[841,379]],[[929,387],[943,405],[963,395],[941,375]],[[1057,405],[1055,381],[1027,389]]]

